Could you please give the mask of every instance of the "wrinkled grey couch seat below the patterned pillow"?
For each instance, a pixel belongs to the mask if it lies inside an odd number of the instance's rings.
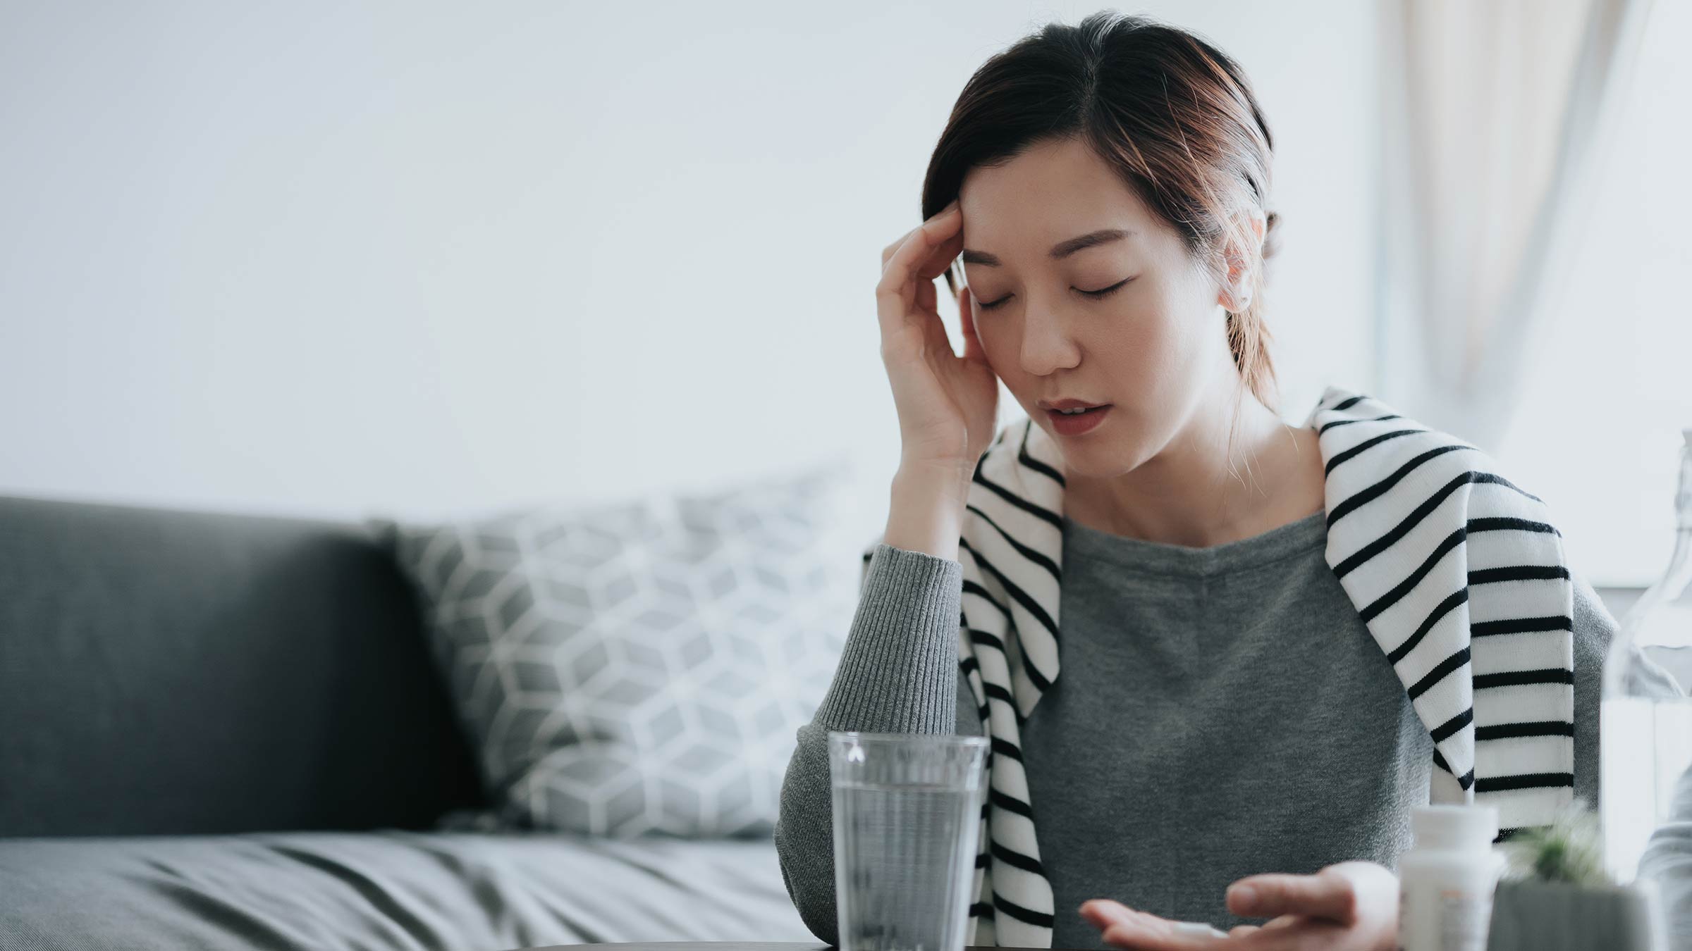
[[[0,841],[0,948],[814,941],[768,839],[284,833]]]

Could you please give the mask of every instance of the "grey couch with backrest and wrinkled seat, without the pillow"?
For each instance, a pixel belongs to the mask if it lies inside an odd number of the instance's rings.
[[[766,838],[484,795],[379,521],[0,497],[0,948],[814,941]]]

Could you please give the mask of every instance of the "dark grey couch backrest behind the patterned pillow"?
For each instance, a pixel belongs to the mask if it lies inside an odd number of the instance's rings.
[[[0,497],[0,836],[426,827],[477,777],[359,525]]]

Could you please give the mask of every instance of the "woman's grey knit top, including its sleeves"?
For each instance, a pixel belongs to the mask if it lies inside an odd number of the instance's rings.
[[[1054,948],[1078,907],[1218,927],[1235,878],[1396,866],[1433,741],[1323,557],[1315,513],[1188,548],[1063,519],[1064,675],[1022,733]],[[1574,577],[1575,795],[1597,804],[1601,665],[1616,621]],[[800,917],[836,943],[827,731],[983,734],[958,672],[963,565],[878,545],[834,682],[782,787],[775,846]]]

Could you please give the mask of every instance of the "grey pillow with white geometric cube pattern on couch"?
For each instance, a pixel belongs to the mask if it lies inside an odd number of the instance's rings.
[[[492,819],[768,834],[856,604],[846,470],[396,525]]]

